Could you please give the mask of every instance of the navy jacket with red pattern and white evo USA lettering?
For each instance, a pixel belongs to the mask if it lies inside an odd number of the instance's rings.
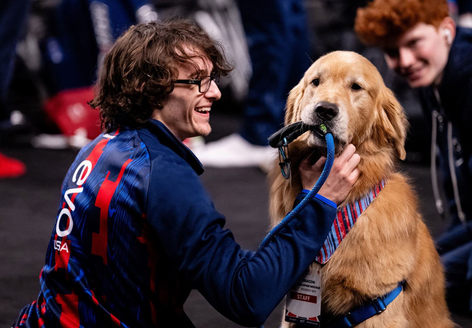
[[[314,198],[248,258],[202,173],[157,120],[84,147],[64,179],[40,295],[13,327],[193,327],[182,307],[192,288],[228,319],[261,325],[320,251],[336,208]]]

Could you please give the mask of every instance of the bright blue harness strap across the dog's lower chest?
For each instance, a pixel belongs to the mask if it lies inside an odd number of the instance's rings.
[[[388,292],[383,296],[376,297],[372,300],[372,302],[368,305],[364,305],[359,309],[347,313],[344,317],[338,320],[333,325],[329,326],[329,328],[349,328],[354,327],[360,324],[362,321],[365,321],[376,314],[384,312],[387,308],[387,305],[392,303],[392,301],[396,298],[396,296],[400,295],[403,284],[405,282],[399,282],[398,287]]]

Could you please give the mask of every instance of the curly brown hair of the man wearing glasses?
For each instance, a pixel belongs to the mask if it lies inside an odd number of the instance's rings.
[[[231,71],[221,45],[192,21],[133,25],[105,56],[95,84],[95,98],[89,104],[100,108],[102,128],[107,132],[118,125],[142,127],[174,89],[176,64],[192,64],[195,79],[199,79],[206,72],[200,72],[195,60],[205,57],[213,64],[215,76]]]

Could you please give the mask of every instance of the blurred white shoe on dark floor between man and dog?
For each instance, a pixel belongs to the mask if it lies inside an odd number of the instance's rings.
[[[197,147],[192,151],[204,168],[260,167],[267,171],[274,157],[277,156],[277,149],[250,144],[237,133]]]

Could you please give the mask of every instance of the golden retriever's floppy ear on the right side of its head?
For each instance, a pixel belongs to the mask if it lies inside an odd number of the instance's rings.
[[[396,155],[400,160],[404,160],[408,121],[402,106],[398,103],[392,91],[385,86],[379,90],[377,114],[373,127],[377,144],[385,144],[386,141],[393,143]]]

